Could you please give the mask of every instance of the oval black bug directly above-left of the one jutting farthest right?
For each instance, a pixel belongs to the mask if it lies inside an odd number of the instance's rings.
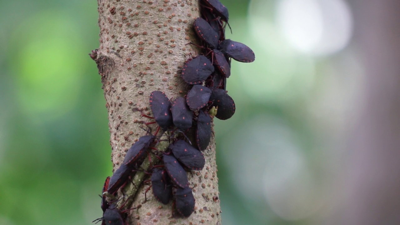
[[[203,18],[196,18],[193,22],[194,31],[196,31],[197,36],[204,40],[207,44],[213,48],[218,46],[218,33],[208,24]]]

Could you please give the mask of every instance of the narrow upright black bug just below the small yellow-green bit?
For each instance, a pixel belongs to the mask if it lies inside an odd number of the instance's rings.
[[[218,114],[218,112],[217,112]],[[196,142],[197,147],[204,151],[211,139],[211,117],[200,110],[197,118]]]

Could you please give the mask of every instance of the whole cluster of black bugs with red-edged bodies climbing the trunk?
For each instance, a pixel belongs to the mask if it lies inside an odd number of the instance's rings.
[[[254,52],[248,46],[225,39],[228,10],[222,3],[218,0],[201,0],[200,7],[202,17],[196,18],[193,27],[201,42],[198,46],[204,51],[202,55],[186,61],[182,68],[182,78],[190,90],[185,97],[178,97],[174,101],[168,99],[164,92],[153,91],[150,94],[150,108],[158,130],[161,128],[173,134],[168,149],[158,152],[160,163],[152,167],[152,191],[163,204],[174,199],[176,210],[184,217],[193,213],[195,204],[186,170],[203,169],[205,159],[201,151],[210,143],[212,118],[215,116],[226,120],[235,112],[235,103],[226,91],[230,60],[253,62],[255,59]],[[116,195],[129,177],[140,170],[150,149],[154,149],[158,143],[158,130],[155,135],[140,137],[130,147],[122,165],[111,178],[106,179],[103,193],[107,191]],[[185,141],[187,133],[195,134],[195,145],[187,138],[188,142]],[[96,221],[102,221],[102,225],[127,224],[124,219],[126,210],[116,209],[114,203],[107,202],[104,195],[101,207],[103,217]]]

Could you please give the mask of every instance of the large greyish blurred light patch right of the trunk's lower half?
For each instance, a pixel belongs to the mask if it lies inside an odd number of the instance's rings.
[[[285,220],[309,217],[322,203],[298,134],[279,117],[259,115],[222,146],[232,180],[249,202],[265,203]],[[240,179],[237,179],[240,177]],[[266,212],[264,212],[266,213]]]

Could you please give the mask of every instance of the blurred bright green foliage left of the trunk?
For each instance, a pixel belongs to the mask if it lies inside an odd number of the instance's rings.
[[[1,2],[0,223],[90,224],[110,175],[97,2]],[[4,223],[3,223],[4,221]]]

